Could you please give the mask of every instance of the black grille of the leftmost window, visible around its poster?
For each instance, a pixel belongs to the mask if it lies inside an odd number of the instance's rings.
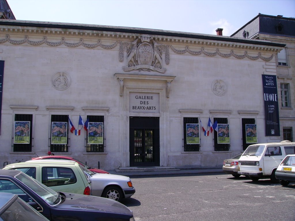
[[[32,152],[32,114],[15,114],[14,121],[30,121],[30,143],[29,144],[13,144],[14,152]]]

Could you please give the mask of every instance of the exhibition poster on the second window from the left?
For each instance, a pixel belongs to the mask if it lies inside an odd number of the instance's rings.
[[[68,122],[51,123],[51,144],[67,144]]]

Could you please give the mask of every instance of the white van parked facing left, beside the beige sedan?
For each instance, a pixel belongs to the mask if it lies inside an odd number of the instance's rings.
[[[253,181],[270,177],[276,183],[276,169],[287,154],[295,154],[295,142],[250,145],[239,159],[238,174],[249,176]]]

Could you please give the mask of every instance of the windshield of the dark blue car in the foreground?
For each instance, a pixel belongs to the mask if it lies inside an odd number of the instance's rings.
[[[25,184],[30,189],[32,189],[36,194],[42,197],[48,204],[53,206],[60,203],[61,201],[60,195],[57,192],[50,189],[49,187],[46,187],[44,184],[33,179],[32,177],[29,177],[28,175],[24,173],[20,173],[16,175],[15,178],[18,179],[23,184]]]

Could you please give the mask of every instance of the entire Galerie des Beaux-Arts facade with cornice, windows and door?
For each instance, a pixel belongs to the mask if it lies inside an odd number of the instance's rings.
[[[259,143],[281,140],[265,133],[262,75],[277,75],[276,54],[284,46],[0,20],[0,162],[51,151],[105,170],[221,166],[249,145],[246,124],[257,127]],[[224,131],[205,136],[209,117]]]

